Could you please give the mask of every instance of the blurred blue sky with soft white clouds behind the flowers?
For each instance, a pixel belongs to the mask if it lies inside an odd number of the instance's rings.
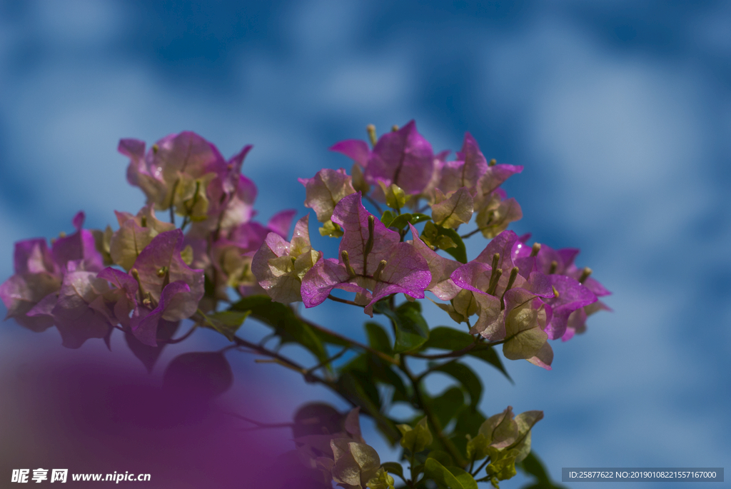
[[[469,131],[488,159],[525,166],[504,185],[523,207],[511,229],[580,248],[577,265],[613,292],[614,310],[592,316],[583,336],[553,342],[553,371],[506,360],[512,385],[481,367],[483,410],[542,409],[533,446],[558,480],[561,467],[724,466],[730,61],[724,1],[0,1],[0,281],[12,275],[15,241],[72,231],[79,210],[86,227],[103,229],[114,210],[143,205],[124,179],[121,137],[152,143],[189,129],[224,156],[253,144],[243,173],[267,221],[284,208],[302,216],[296,178],[349,169],[327,148],[366,139],[366,124],[380,133],[414,118],[435,151],[457,151]],[[470,258],[485,246],[469,243]],[[363,338],[366,317],[337,306],[309,314]],[[431,325],[452,324],[428,311]],[[18,445],[29,469],[50,444],[34,409],[48,415],[75,401],[31,395],[24,379],[51,382],[48,371],[83,358],[154,384],[175,355],[223,345],[197,332],[148,376],[118,336],[112,352],[102,341],[60,343],[55,329],[0,327],[0,424],[20,426],[13,440],[35,433]],[[261,421],[285,422],[311,399],[346,407],[278,365],[228,357],[228,410],[256,404]],[[364,429],[393,460],[372,425]],[[289,433],[271,436],[284,443]],[[87,465],[69,469],[97,470]]]

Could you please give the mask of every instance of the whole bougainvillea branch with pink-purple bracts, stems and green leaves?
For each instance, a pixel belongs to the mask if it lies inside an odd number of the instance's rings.
[[[507,229],[523,214],[501,186],[523,167],[488,161],[469,133],[454,159],[451,151],[435,154],[414,121],[381,137],[368,126],[368,136],[370,141],[345,140],[330,148],[352,160],[349,172],[325,168],[311,178],[298,175],[304,205],[314,211],[319,234],[325,237],[320,239],[338,240],[335,257],[325,256],[311,240],[308,215],[283,210],[266,224],[254,219],[257,187],[241,173],[251,145],[225,159],[193,132],[170,134],[150,148],[140,140],[121,140],[118,151],[129,158],[127,181],[143,191],[145,205],[137,213],[115,211],[116,230],[84,229],[80,212],[72,219],[75,232],[61,233],[50,246],[43,238],[16,243],[15,273],[0,285],[7,316],[37,332],[55,326],[69,348],[89,338],[104,338],[109,346],[113,330],[121,330],[148,367],[162,346],[187,336],[171,338],[178,324],[190,319],[194,325],[189,333],[196,327],[216,330],[235,347],[267,355],[363,409],[392,443],[401,439],[413,478],[423,473],[442,486],[463,487],[453,481],[475,483],[472,467],[469,473],[465,469],[469,460],[485,458],[481,467],[486,465],[487,475],[479,480],[496,485],[512,477],[515,464],[529,456],[531,428],[542,412],[514,416],[509,406],[489,418],[477,413],[463,424],[450,424],[461,413],[456,409],[440,422],[430,411],[432,399],[419,395],[420,379],[436,370],[455,377],[464,389],[444,395],[463,401],[466,393],[473,411],[482,392],[480,382],[469,382],[474,376],[469,368],[451,361],[414,376],[405,359],[469,354],[504,372],[493,352],[501,345],[507,359],[550,370],[549,341],[567,341],[586,330],[588,316],[608,309],[599,297],[610,292],[591,276],[591,269],[575,264],[577,249],[529,243],[530,235]],[[464,240],[473,235],[488,241],[469,259]],[[429,329],[420,306],[426,292],[455,322],[453,327]],[[315,325],[290,306],[301,302],[314,308],[327,300],[387,319],[393,343],[374,322],[366,323],[366,346]],[[236,336],[247,316],[272,327],[281,343],[308,349],[317,365],[300,367],[266,349],[266,340],[254,344]],[[331,356],[324,344],[345,349]],[[331,368],[349,349],[364,352],[341,367],[338,379],[315,374]],[[427,349],[450,352],[430,356]],[[186,355],[199,356],[181,360],[176,368],[193,362],[200,364],[196,372],[213,368],[220,378],[230,379],[222,352]],[[404,376],[412,387],[404,386]],[[395,425],[368,382],[389,384],[394,399],[416,406],[425,417]],[[211,392],[219,387],[214,385]],[[334,416],[340,419],[337,412]],[[360,434],[358,416],[354,409],[340,425],[322,424],[320,412],[308,421],[315,423],[314,434],[295,433],[297,456],[327,483],[393,488],[386,469],[398,474],[401,468],[380,463]],[[469,436],[450,438],[442,424]],[[424,458],[429,447],[436,455]]]

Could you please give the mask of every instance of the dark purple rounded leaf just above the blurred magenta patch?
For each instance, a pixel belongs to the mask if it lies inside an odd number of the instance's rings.
[[[194,398],[214,398],[230,389],[233,372],[221,352],[183,353],[167,365],[162,383]]]

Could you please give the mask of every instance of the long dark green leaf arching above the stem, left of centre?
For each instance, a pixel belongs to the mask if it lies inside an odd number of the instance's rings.
[[[308,349],[321,362],[327,360],[327,352],[322,341],[312,328],[300,321],[289,306],[273,302],[267,295],[243,297],[233,304],[229,311],[250,311],[251,317],[274,328],[281,342],[298,343]]]

